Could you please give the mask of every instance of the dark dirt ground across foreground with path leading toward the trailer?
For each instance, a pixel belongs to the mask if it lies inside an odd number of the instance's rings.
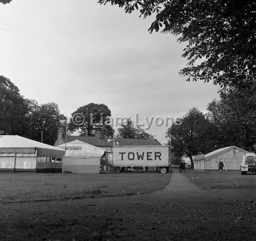
[[[147,195],[0,204],[0,239],[256,240],[254,191],[201,190],[174,171]]]

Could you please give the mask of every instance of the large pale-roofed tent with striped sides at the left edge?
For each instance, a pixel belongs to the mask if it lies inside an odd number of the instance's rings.
[[[65,153],[58,147],[25,137],[0,136],[0,170],[35,170],[38,158],[61,157]]]

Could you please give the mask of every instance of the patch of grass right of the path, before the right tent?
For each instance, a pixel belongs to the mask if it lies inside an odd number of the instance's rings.
[[[256,175],[241,176],[240,172],[196,172],[187,171],[185,175],[189,180],[205,190],[256,187]]]

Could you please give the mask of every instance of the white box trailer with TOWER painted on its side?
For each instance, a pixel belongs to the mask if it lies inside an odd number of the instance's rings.
[[[113,166],[121,171],[158,171],[166,173],[169,161],[169,146],[115,146]]]

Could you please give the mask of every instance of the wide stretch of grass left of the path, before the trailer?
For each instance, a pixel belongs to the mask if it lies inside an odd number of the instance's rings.
[[[0,173],[0,202],[45,201],[151,193],[171,173]]]

